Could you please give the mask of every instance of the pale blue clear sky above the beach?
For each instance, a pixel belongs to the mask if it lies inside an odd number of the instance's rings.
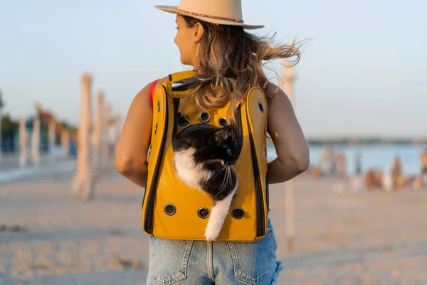
[[[31,115],[40,102],[78,123],[80,75],[88,71],[93,94],[104,90],[124,117],[147,83],[188,68],[174,45],[174,15],[153,8],[178,3],[0,0],[5,112]],[[257,34],[277,32],[283,43],[312,38],[295,82],[307,137],[427,136],[426,11],[415,0],[243,0],[246,23],[265,25]]]

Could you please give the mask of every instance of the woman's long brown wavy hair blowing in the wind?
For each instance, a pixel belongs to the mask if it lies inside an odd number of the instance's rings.
[[[199,57],[194,63],[196,76],[215,78],[215,81],[203,80],[193,86],[186,100],[194,100],[201,112],[222,108],[231,100],[229,115],[233,125],[236,125],[238,105],[250,88],[258,86],[268,94],[268,78],[263,71],[265,63],[275,58],[294,58],[291,61],[293,65],[300,61],[300,43],[295,41],[290,45],[273,46],[274,36],[258,37],[240,26],[211,24],[183,17],[189,28],[196,23],[204,28]]]

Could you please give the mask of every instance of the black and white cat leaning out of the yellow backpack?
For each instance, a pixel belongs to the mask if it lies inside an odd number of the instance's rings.
[[[172,143],[174,166],[186,185],[211,195],[214,200],[205,231],[206,240],[218,237],[238,188],[233,165],[236,142],[232,126],[192,125],[179,133]]]

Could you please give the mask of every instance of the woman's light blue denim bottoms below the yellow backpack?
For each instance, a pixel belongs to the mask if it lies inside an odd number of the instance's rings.
[[[282,269],[270,219],[258,242],[201,242],[152,237],[148,284],[276,284]]]

